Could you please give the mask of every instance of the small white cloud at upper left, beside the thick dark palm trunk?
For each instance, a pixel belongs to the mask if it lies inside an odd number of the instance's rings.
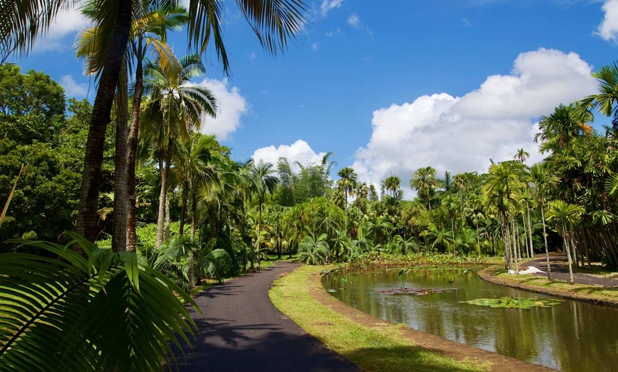
[[[73,39],[78,31],[90,26],[90,22],[78,9],[63,11],[58,14],[54,23],[50,25],[48,33],[36,40],[34,52],[46,52],[49,50],[66,50],[72,48]]]

